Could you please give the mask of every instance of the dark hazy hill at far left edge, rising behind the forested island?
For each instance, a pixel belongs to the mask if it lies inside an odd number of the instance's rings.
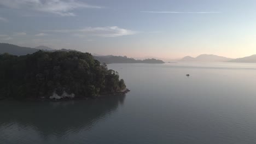
[[[36,51],[38,51],[38,49],[33,49],[30,47],[22,47],[22,46],[12,45],[12,44],[0,43],[0,53],[9,53],[11,55],[22,56],[22,55],[34,53]]]

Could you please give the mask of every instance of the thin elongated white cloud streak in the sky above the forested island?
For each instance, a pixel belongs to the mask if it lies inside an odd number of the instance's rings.
[[[98,37],[121,37],[123,35],[133,35],[138,32],[129,29],[119,28],[117,26],[113,27],[86,27],[82,29],[55,29],[47,30],[44,32],[53,33],[73,33],[77,37],[85,36],[98,36]]]

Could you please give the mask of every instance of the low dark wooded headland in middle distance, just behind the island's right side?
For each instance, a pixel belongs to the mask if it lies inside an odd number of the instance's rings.
[[[95,59],[102,63],[165,63],[159,59],[144,59],[136,60],[134,58],[127,58],[126,56],[94,56]]]

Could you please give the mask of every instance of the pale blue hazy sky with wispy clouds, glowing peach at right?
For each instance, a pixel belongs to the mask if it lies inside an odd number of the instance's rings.
[[[101,55],[256,54],[255,0],[0,0],[0,42]]]

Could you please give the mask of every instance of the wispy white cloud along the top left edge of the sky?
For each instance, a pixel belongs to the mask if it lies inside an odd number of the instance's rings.
[[[11,9],[31,9],[59,16],[75,16],[71,11],[77,8],[101,8],[77,0],[1,0],[0,5]]]

